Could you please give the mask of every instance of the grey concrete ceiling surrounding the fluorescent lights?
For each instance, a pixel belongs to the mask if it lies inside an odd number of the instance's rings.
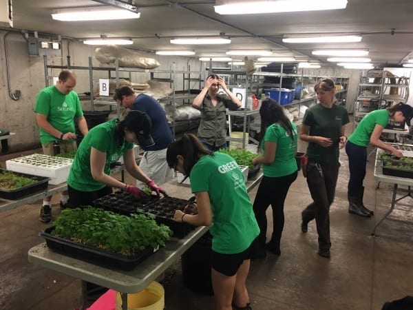
[[[310,1],[310,0],[308,0]],[[334,1],[334,0],[330,0]],[[268,49],[299,60],[326,61],[313,56],[316,48],[366,48],[376,65],[400,64],[413,52],[413,0],[348,0],[344,10],[288,12],[258,15],[220,15],[215,1],[136,0],[140,19],[121,21],[54,21],[56,8],[98,6],[87,0],[13,0],[14,28],[60,34],[76,39],[129,37],[142,50],[195,50],[195,56],[224,54],[233,49]],[[394,30],[394,34],[392,34]],[[219,36],[226,45],[172,45],[169,39],[186,36]],[[361,34],[360,43],[282,43],[284,34]],[[130,45],[129,45],[130,46]]]

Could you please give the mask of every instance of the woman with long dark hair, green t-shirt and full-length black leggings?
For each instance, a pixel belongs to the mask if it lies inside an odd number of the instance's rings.
[[[297,178],[297,127],[273,99],[262,101],[260,107],[260,147],[264,154],[253,158],[253,165],[262,164],[264,176],[254,200],[254,213],[260,236],[253,258],[264,258],[266,251],[281,255],[280,240],[284,229],[284,200],[290,185]],[[273,209],[273,234],[266,243],[266,209]]]

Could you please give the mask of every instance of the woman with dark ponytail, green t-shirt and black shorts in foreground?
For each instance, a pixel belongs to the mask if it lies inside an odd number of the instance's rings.
[[[167,162],[191,178],[196,197],[191,214],[176,210],[173,220],[209,226],[213,237],[211,280],[216,309],[250,310],[245,282],[260,229],[240,167],[231,156],[209,151],[193,134],[184,134],[169,145]]]

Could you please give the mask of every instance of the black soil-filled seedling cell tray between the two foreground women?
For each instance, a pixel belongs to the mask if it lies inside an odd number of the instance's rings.
[[[173,231],[173,236],[176,238],[184,238],[193,230],[193,226],[188,223],[177,223],[172,220],[175,210],[180,209],[183,211],[187,204],[187,200],[170,196],[158,198],[156,195],[150,195],[138,199],[123,191],[94,200],[95,207],[125,216],[141,211],[153,214],[156,223],[167,225]]]

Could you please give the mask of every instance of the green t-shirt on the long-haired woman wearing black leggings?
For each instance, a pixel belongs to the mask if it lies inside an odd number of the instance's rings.
[[[280,124],[269,125],[265,131],[262,141],[262,149],[265,151],[265,143],[277,143],[275,159],[273,163],[262,166],[264,176],[288,176],[297,171],[297,161],[295,161],[295,152],[297,152],[297,126],[293,126],[294,136],[290,137],[290,132]]]

